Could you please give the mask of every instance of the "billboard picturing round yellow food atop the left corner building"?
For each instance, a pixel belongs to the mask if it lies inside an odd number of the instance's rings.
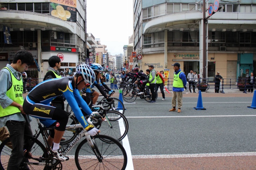
[[[64,21],[76,22],[76,1],[68,2],[71,1],[50,0],[50,14]]]

